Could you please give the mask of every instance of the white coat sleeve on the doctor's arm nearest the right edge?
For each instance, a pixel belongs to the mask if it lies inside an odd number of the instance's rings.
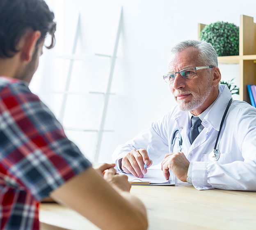
[[[226,164],[193,162],[192,183],[196,189],[256,191],[256,109],[249,106],[232,115],[229,120],[233,130],[229,130],[229,138],[234,137],[232,147],[241,151],[243,160]]]

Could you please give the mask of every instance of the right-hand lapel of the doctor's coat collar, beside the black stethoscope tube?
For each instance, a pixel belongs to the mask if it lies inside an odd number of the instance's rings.
[[[219,126],[226,110],[226,106],[229,104],[231,99],[231,92],[226,85],[219,85],[219,98],[214,102],[213,107],[205,116],[204,120],[209,122],[211,126],[219,131]]]

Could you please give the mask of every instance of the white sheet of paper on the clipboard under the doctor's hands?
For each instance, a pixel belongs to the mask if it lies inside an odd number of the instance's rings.
[[[171,173],[169,180],[166,180],[164,174],[161,169],[148,169],[148,172],[144,174],[144,178],[137,178],[133,176],[133,174],[126,174],[128,176],[128,180],[130,182],[138,182],[138,181],[149,181],[151,184],[164,184],[164,183],[175,183],[175,176]]]

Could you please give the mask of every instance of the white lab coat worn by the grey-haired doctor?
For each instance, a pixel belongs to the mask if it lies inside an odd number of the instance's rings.
[[[217,149],[220,157],[209,161],[208,154],[214,148],[220,122],[231,92],[226,85],[219,86],[219,97],[204,117],[204,129],[192,144],[189,140],[189,113],[178,106],[172,108],[149,129],[117,147],[112,155],[118,165],[132,149],[146,149],[150,144],[150,159],[161,162],[171,152],[171,140],[176,129],[183,139],[182,151],[192,163],[192,184],[201,189],[229,189],[256,191],[256,108],[244,101],[233,100],[219,136]],[[178,143],[178,142],[177,142]],[[178,151],[175,147],[174,152]]]

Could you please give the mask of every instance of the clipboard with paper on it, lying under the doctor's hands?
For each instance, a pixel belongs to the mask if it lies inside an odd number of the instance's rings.
[[[126,174],[131,185],[175,185],[175,175],[170,172],[169,180],[166,180],[161,169],[147,169],[144,178],[137,178],[132,174]]]

